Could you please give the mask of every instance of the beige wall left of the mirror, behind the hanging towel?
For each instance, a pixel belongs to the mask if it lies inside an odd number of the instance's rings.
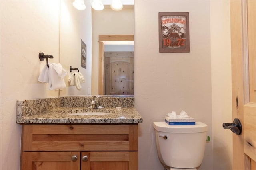
[[[1,0],[1,170],[19,169],[21,125],[16,101],[58,96],[37,81],[46,64],[40,51],[59,61],[58,0]]]

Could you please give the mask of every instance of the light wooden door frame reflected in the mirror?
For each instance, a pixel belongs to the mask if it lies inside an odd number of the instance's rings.
[[[134,43],[134,35],[99,35],[99,95],[105,94],[104,85],[104,45],[108,43]]]

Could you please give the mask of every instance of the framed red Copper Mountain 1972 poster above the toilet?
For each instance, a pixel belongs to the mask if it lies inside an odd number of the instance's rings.
[[[188,12],[159,12],[159,52],[189,53]]]

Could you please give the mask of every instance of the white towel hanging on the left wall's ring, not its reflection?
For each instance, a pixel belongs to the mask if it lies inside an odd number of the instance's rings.
[[[47,65],[42,69],[38,81],[49,83],[48,88],[50,90],[63,89],[66,87],[64,77],[68,72],[62,68],[60,63],[49,63],[49,68]]]

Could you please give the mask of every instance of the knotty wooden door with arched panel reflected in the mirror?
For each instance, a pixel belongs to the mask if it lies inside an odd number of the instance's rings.
[[[133,52],[105,52],[105,95],[133,95]]]

